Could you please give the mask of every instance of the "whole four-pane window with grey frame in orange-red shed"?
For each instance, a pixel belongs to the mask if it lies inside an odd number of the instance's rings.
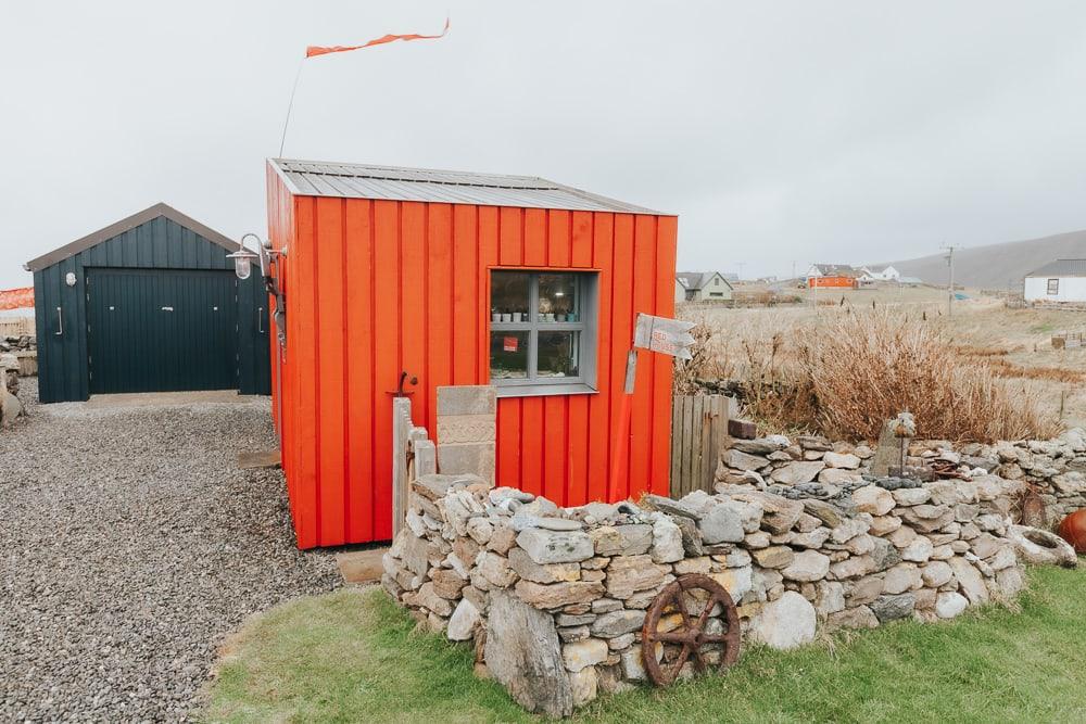
[[[597,275],[491,271],[490,381],[502,395],[592,392]]]

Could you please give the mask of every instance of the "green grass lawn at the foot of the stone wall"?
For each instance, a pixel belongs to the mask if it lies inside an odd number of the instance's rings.
[[[721,676],[601,697],[601,722],[1086,721],[1086,571],[1037,569],[1021,610],[904,622],[795,651],[750,648]],[[413,631],[379,589],[303,598],[228,647],[203,717],[236,722],[519,722],[468,646]]]

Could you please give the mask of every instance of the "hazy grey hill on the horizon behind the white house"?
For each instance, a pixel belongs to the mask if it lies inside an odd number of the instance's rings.
[[[1020,289],[1022,278],[1061,258],[1086,258],[1086,230],[1026,241],[971,246],[955,252],[955,282],[981,289]],[[902,277],[919,277],[932,284],[947,282],[945,253],[905,262],[889,262]]]

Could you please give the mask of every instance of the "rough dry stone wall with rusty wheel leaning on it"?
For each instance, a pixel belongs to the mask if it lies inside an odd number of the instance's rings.
[[[716,494],[577,508],[475,475],[426,475],[412,485],[382,582],[432,631],[472,640],[480,672],[527,709],[567,715],[645,679],[646,609],[685,573],[729,592],[744,642],[776,648],[820,628],[934,622],[1013,597],[1023,570],[1009,519],[1022,483],[994,472],[1014,448],[1028,454],[1014,460],[1023,477],[1021,463],[1038,456],[1066,463],[1052,466],[1053,480],[1066,475],[1078,440],[1060,443],[1059,456],[1028,444],[961,454],[968,480],[929,483],[866,477],[869,447],[734,441]]]

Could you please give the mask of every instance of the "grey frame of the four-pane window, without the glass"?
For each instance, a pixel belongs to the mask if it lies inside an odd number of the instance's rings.
[[[596,358],[598,348],[598,291],[599,272],[592,269],[489,269],[503,274],[528,276],[528,321],[493,321],[487,329],[488,376],[489,350],[492,332],[528,332],[528,377],[526,379],[491,379],[498,397],[532,397],[545,395],[576,395],[598,392],[596,389]],[[577,321],[541,321],[539,318],[539,278],[543,275],[569,275],[576,283],[580,300]],[[491,277],[493,278],[493,277]],[[488,284],[490,288],[490,284]],[[488,300],[488,308],[492,308]],[[578,332],[578,374],[576,377],[539,377],[539,333]]]

